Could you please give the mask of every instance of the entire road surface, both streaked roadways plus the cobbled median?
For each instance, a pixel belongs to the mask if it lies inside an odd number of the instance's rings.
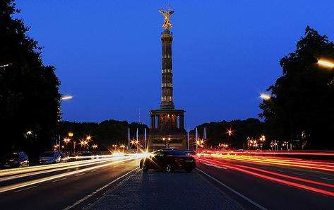
[[[322,193],[333,192],[331,171],[219,158],[197,161],[190,174],[143,173],[133,158],[68,163],[15,176],[0,171],[0,209],[334,209],[334,196]]]

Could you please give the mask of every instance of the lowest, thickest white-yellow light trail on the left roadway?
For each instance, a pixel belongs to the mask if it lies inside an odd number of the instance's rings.
[[[105,164],[102,164],[102,165],[95,165],[95,166],[92,166],[92,167],[89,167],[89,168],[74,170],[74,171],[67,172],[67,173],[61,173],[59,175],[52,175],[52,176],[49,176],[49,177],[42,177],[42,178],[39,178],[39,179],[36,179],[36,180],[30,180],[30,181],[27,181],[27,182],[20,182],[20,183],[17,183],[17,184],[0,187],[0,193],[1,192],[6,192],[8,190],[18,189],[20,187],[28,187],[30,185],[37,185],[41,182],[47,182],[49,180],[60,179],[62,177],[66,177],[66,176],[69,176],[69,175],[76,175],[76,174],[80,174],[80,173],[85,173],[85,172],[90,171],[90,170],[96,170],[96,169],[108,167],[110,165],[114,165],[114,164],[117,164],[117,163],[122,163],[124,161],[136,160],[138,158],[141,158],[141,156],[125,157],[122,160],[113,161],[111,163],[105,163]]]

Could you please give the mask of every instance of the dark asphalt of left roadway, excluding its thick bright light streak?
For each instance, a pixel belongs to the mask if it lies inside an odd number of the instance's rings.
[[[114,164],[112,164],[114,162]],[[107,165],[107,164],[110,165]],[[98,168],[99,165],[105,165]],[[111,187],[126,178],[128,173],[138,167],[138,160],[109,161],[91,167],[78,167],[53,172],[70,173],[64,177],[45,182],[19,187],[0,193],[0,209],[81,209],[95,201]],[[91,168],[91,169],[90,169]],[[84,170],[83,172],[81,172]],[[77,173],[78,172],[78,173]],[[23,177],[1,182],[1,187],[19,182],[29,182],[42,177],[52,176],[49,173]],[[123,176],[123,177],[122,177]],[[80,201],[80,202],[79,202]]]

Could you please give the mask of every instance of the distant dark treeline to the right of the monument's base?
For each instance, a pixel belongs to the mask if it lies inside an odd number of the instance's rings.
[[[197,126],[199,138],[203,138],[203,129],[206,129],[206,146],[216,147],[219,143],[229,144],[232,148],[247,148],[247,137],[259,139],[265,134],[264,123],[259,119],[234,119],[231,121],[209,122]],[[232,131],[229,136],[228,130]],[[195,135],[195,130],[191,131],[191,136]]]

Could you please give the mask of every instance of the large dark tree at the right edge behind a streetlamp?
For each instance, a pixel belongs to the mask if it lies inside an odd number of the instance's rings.
[[[272,97],[261,103],[260,117],[273,138],[333,149],[334,69],[318,59],[334,61],[334,44],[308,26],[295,51],[280,60],[283,75],[268,88]]]

